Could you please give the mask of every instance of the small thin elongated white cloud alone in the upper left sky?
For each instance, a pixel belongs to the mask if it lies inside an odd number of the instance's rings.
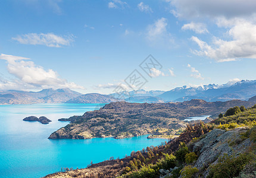
[[[18,41],[21,44],[26,45],[45,45],[48,47],[63,47],[69,46],[71,42],[74,42],[73,35],[62,37],[54,33],[28,33],[13,37],[13,40]]]

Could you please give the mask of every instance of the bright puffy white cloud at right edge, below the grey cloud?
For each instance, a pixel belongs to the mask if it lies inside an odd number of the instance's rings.
[[[207,56],[216,59],[218,62],[235,61],[239,58],[256,58],[256,25],[246,21],[234,21],[233,26],[227,31],[227,36],[231,40],[223,40],[213,37],[211,45],[199,40],[198,37],[191,39],[196,42],[200,50],[194,50],[197,55]],[[218,22],[221,24],[220,21]],[[227,20],[222,23],[229,25]]]

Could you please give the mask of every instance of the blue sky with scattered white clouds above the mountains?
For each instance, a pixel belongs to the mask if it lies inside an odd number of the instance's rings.
[[[0,90],[255,80],[255,0],[2,0]]]

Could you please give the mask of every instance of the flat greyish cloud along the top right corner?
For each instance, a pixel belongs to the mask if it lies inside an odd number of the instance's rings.
[[[176,17],[185,19],[216,18],[216,17],[248,17],[255,14],[255,0],[171,0],[171,9]]]

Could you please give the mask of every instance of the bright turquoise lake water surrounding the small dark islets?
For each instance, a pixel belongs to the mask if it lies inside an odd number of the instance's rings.
[[[132,151],[160,145],[167,139],[146,139],[146,135],[126,138],[86,140],[48,139],[68,122],[60,118],[83,115],[104,104],[32,104],[0,105],[0,177],[42,177],[61,167],[84,168],[110,157],[123,158]],[[46,116],[48,125],[26,122],[27,116]]]

